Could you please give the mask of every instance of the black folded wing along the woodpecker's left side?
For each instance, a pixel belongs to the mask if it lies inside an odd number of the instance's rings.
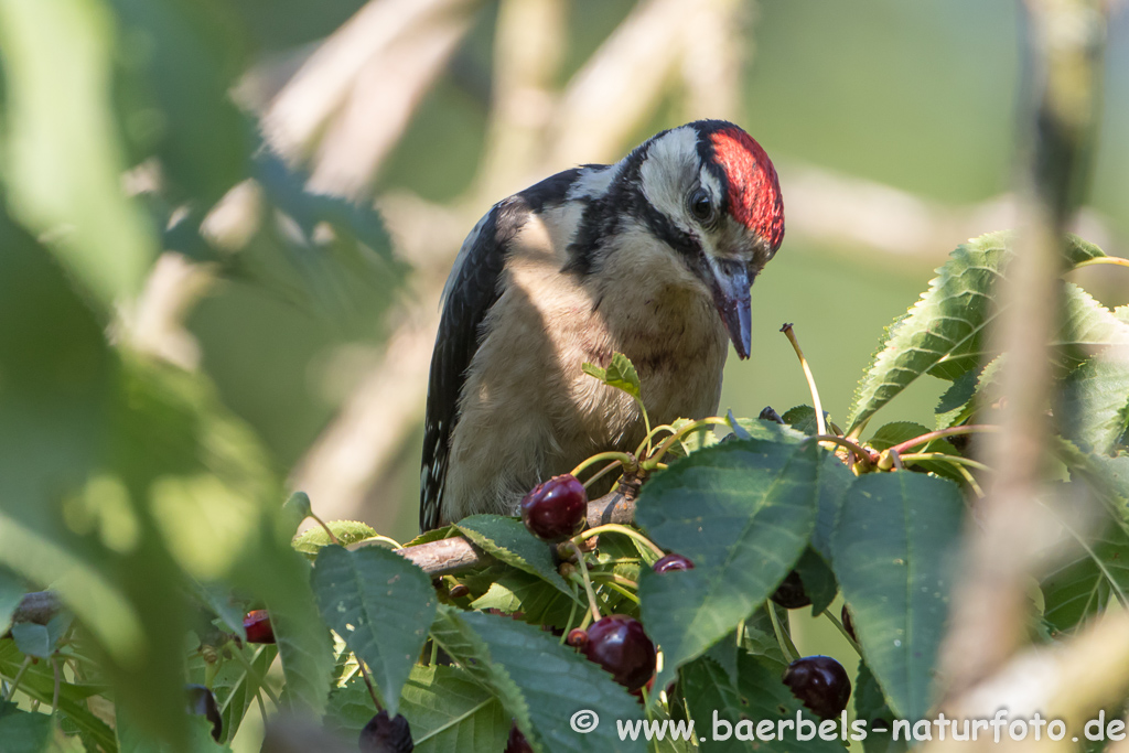
[[[450,437],[458,420],[458,399],[466,383],[466,369],[482,341],[482,321],[501,295],[509,245],[531,213],[564,201],[581,172],[576,168],[559,173],[495,204],[471,230],[455,259],[443,291],[443,318],[428,382],[420,531],[430,531],[443,523],[444,483]]]

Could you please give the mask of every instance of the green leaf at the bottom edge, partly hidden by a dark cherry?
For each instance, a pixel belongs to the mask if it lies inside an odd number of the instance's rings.
[[[365,683],[333,691],[330,727],[355,738],[376,710]],[[415,742],[415,753],[501,751],[510,718],[489,690],[458,667],[414,666],[400,701]]]

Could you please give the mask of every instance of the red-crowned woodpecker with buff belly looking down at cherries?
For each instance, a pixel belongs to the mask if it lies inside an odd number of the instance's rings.
[[[718,408],[750,287],[784,238],[776,169],[741,128],[697,121],[614,165],[504,199],[463,243],[431,358],[420,529],[514,515],[594,453],[633,450],[642,415],[581,370],[624,353],[653,426]]]

